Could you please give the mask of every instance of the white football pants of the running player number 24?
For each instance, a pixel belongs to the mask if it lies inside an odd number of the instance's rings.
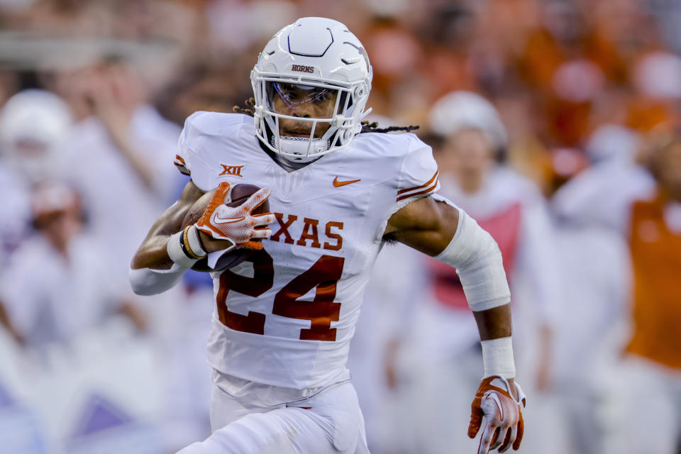
[[[237,402],[213,387],[213,434],[178,454],[368,454],[364,419],[350,382],[280,406]]]

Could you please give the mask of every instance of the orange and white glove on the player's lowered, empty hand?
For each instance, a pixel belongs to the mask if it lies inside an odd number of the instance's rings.
[[[524,432],[521,404],[525,406],[525,394],[519,384],[514,382],[514,385],[518,399],[514,399],[509,382],[502,377],[492,375],[480,382],[475,399],[470,404],[468,426],[468,436],[475,438],[485,417],[485,429],[480,436],[477,454],[487,454],[497,448],[499,453],[503,453],[511,445],[514,450],[520,448]]]

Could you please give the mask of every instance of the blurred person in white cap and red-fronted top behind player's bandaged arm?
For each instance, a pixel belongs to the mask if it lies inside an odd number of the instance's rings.
[[[535,184],[505,165],[506,128],[487,99],[472,92],[445,94],[431,109],[431,128],[442,141],[435,150],[440,194],[475,218],[502,251],[514,293],[514,326],[522,328],[514,343],[524,355],[516,355],[516,360],[526,374],[537,371],[523,382],[529,379],[538,390],[548,365],[552,306],[560,296],[553,226],[543,196]],[[402,377],[402,389],[397,392],[400,398],[393,399],[402,400],[402,411],[393,411],[387,418],[397,413],[402,413],[400,419],[409,415],[419,452],[443,453],[449,446],[468,444],[465,434],[450,426],[465,421],[467,414],[452,409],[451,403],[465,399],[465,389],[477,383],[477,371],[470,365],[480,362],[480,344],[455,270],[431,258],[421,261],[426,284],[419,289],[421,304],[414,311],[410,333],[405,338],[402,329],[389,342],[391,346],[407,345],[398,355],[389,356],[401,358],[402,372],[409,376]],[[395,373],[397,367],[390,366],[387,371]],[[421,373],[414,374],[414,370]],[[533,407],[534,415],[545,401]],[[531,418],[532,414],[525,416]],[[539,422],[547,423],[546,419]],[[404,433],[397,426],[394,424],[393,430],[400,433],[388,437],[389,442]],[[524,440],[526,449],[528,442],[543,443],[533,434]]]

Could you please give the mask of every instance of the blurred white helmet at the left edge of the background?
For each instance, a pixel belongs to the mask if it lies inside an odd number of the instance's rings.
[[[0,154],[22,177],[37,182],[57,171],[72,126],[71,111],[59,96],[19,92],[0,110]]]

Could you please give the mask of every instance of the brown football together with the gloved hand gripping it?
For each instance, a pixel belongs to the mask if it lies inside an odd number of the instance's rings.
[[[262,238],[269,238],[272,230],[267,226],[275,221],[270,213],[267,197],[270,189],[260,189],[253,184],[221,183],[216,189],[202,195],[187,211],[182,228],[196,224],[199,231],[216,240],[229,240],[233,250],[221,255],[214,269],[207,260],[196,262],[194,270],[223,271],[238,265],[254,250],[262,249]]]

